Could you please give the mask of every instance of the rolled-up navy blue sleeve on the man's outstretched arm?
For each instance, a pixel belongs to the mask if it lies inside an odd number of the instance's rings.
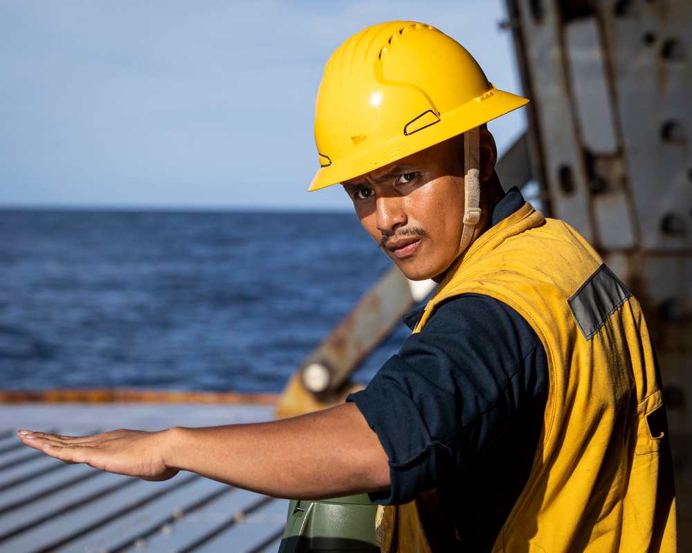
[[[490,447],[543,400],[547,362],[533,329],[504,303],[465,294],[440,306],[365,390],[349,395],[389,457],[391,487],[407,503]]]

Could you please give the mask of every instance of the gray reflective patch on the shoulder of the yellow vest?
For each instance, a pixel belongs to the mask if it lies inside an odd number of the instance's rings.
[[[625,285],[603,264],[567,303],[570,303],[579,330],[590,340],[631,295]]]

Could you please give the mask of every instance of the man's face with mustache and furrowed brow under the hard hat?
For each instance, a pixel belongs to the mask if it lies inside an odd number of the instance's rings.
[[[439,277],[457,257],[462,152],[454,138],[343,183],[363,227],[409,279]]]

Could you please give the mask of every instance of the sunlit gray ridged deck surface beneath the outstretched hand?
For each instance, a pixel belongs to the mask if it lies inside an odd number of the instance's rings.
[[[0,403],[0,553],[276,552],[288,502],[181,473],[106,474],[28,449],[19,429],[89,434],[271,420],[271,404]]]

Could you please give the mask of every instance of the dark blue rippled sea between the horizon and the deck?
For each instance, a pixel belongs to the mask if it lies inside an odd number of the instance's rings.
[[[0,388],[278,392],[390,266],[352,214],[0,211]]]

